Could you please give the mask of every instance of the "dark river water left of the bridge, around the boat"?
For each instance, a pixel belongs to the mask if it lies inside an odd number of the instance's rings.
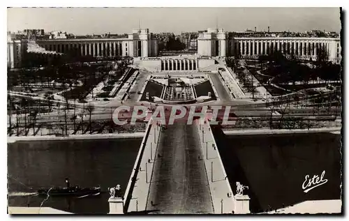
[[[126,189],[142,139],[31,141],[8,144],[8,205],[40,206],[38,188],[101,186],[94,197],[50,197],[43,206],[71,213],[109,212],[108,187]]]

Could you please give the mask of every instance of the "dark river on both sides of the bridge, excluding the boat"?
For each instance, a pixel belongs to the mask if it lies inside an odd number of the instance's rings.
[[[253,213],[291,206],[305,200],[340,199],[341,135],[309,133],[225,136],[214,131],[223,165],[235,182],[248,185]],[[9,206],[40,206],[45,197],[28,195],[38,188],[121,184],[125,190],[141,139],[96,139],[15,142],[8,144]],[[306,175],[325,171],[327,183],[305,193]],[[43,206],[71,213],[109,212],[108,192],[96,197],[50,197]]]

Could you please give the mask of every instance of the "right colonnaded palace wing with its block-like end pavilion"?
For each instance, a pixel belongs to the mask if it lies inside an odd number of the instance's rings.
[[[246,32],[244,32],[246,34]],[[246,59],[258,59],[258,56],[279,50],[286,56],[295,56],[302,60],[315,60],[318,52],[324,50],[328,60],[341,62],[341,40],[332,37],[282,36],[282,33],[267,33],[267,36],[255,36],[256,33],[241,37],[239,33],[230,34],[223,29],[207,29],[199,33],[198,54],[201,56],[242,56]]]

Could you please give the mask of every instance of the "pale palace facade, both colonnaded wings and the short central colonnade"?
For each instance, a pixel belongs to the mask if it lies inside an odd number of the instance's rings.
[[[36,47],[33,47],[33,44]],[[234,37],[223,29],[207,29],[198,33],[198,56],[239,56],[258,59],[258,56],[279,50],[285,56],[296,59],[316,60],[320,52],[327,59],[341,63],[340,38],[308,37]],[[38,56],[59,56],[75,49],[81,56],[108,57],[154,57],[158,56],[158,40],[149,29],[133,29],[126,38],[40,38],[35,41],[8,36],[8,68],[22,67],[27,53]],[[198,70],[197,61],[161,61],[161,70]]]

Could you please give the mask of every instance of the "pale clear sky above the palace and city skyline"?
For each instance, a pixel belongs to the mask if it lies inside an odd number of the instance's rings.
[[[339,8],[8,8],[8,31],[45,29],[75,35],[202,31],[341,30]]]

